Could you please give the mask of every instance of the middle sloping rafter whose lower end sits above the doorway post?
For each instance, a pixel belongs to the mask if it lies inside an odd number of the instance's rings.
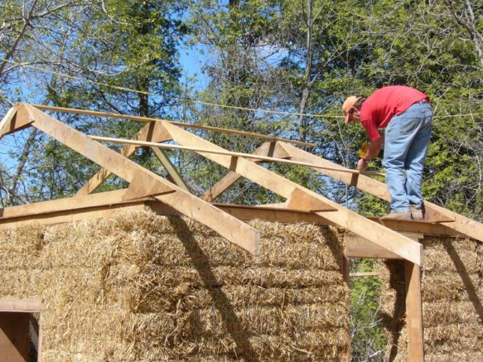
[[[164,127],[166,127],[166,130],[171,134],[173,141],[181,145],[213,151],[223,150],[217,145],[213,145],[213,143],[201,139],[190,132],[177,128],[175,125],[167,122],[164,122],[163,124]],[[311,190],[303,188],[302,186],[297,185],[297,183],[289,181],[274,172],[270,172],[253,162],[247,161],[246,159],[241,157],[230,157],[215,152],[198,153],[211,161],[237,172],[237,174],[241,174],[243,177],[262,185],[264,188],[267,188],[286,199],[290,199],[293,192],[296,189],[299,189],[313,199],[326,203],[329,207],[336,210],[334,212],[317,212],[320,217],[323,217],[342,228],[355,232],[355,234],[366,237],[373,243],[400,255],[400,257],[403,257],[404,259],[417,263],[418,265],[421,265],[422,263],[422,245],[420,243],[397,234],[397,232],[389,230],[382,225],[373,223],[355,212],[352,212]]]

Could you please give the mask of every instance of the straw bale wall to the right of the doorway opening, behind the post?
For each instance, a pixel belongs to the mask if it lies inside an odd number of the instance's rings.
[[[425,238],[422,309],[426,362],[483,361],[483,244]],[[404,264],[381,265],[386,361],[407,361]]]

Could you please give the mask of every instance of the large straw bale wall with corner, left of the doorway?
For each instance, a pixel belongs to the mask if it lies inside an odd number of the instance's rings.
[[[41,299],[41,361],[341,361],[337,231],[253,221],[261,256],[152,212],[0,233],[0,298]]]

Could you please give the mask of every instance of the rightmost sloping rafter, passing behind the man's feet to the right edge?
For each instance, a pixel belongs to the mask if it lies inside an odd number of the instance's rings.
[[[339,167],[335,163],[331,161],[327,161],[322,159],[322,157],[317,157],[314,154],[310,154],[305,152],[304,150],[299,150],[288,144],[280,144],[289,154],[292,156],[293,159],[299,161],[308,161],[311,163],[319,163],[319,165],[324,165],[328,167]],[[375,179],[371,179],[369,177],[364,177],[364,175],[357,175],[357,178],[351,177],[347,174],[337,173],[337,172],[329,172],[329,170],[320,169],[319,172],[323,172],[324,174],[328,174],[329,176],[334,177],[339,181],[343,181],[348,185],[354,185],[355,187],[373,194],[381,199],[389,201],[391,196],[387,190],[387,186],[385,183],[377,181]],[[455,230],[460,234],[465,234],[468,237],[473,239],[483,241],[483,224],[478,223],[477,221],[471,220],[467,217],[464,217],[456,212],[452,212],[445,208],[442,208],[434,203],[430,203],[428,201],[424,201],[424,205],[426,207],[426,221],[429,222],[444,222],[446,227]]]

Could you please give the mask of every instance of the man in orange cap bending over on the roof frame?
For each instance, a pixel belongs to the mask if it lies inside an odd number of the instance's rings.
[[[388,86],[367,99],[348,97],[342,111],[346,123],[362,123],[370,141],[357,170],[366,170],[368,161],[379,154],[384,143],[382,165],[391,193],[391,213],[385,218],[424,220],[422,173],[433,125],[429,97],[410,87]],[[377,128],[386,128],[385,136]]]

